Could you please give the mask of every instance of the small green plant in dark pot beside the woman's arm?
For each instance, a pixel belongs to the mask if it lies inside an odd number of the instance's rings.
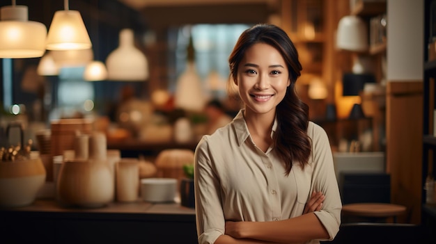
[[[194,199],[194,164],[183,165],[185,178],[180,181],[180,204],[188,208],[195,208]]]

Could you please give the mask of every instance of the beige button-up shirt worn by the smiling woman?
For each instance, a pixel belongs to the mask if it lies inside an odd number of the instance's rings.
[[[277,128],[274,122],[272,133]],[[341,224],[341,197],[327,133],[309,122],[312,154],[304,170],[294,163],[290,174],[274,147],[258,149],[242,111],[225,127],[203,136],[195,152],[198,243],[214,243],[226,220],[274,221],[302,215],[313,190],[325,200],[315,214],[334,238]],[[308,243],[319,243],[318,240]]]

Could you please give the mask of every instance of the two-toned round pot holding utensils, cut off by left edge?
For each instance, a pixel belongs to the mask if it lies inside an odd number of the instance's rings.
[[[0,162],[0,206],[31,204],[44,185],[46,176],[40,158]]]

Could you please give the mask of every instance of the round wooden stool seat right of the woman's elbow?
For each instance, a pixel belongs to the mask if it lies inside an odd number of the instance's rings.
[[[356,216],[377,222],[377,220],[394,218],[406,213],[406,207],[398,204],[377,203],[377,202],[362,202],[345,204],[342,206],[343,215]]]

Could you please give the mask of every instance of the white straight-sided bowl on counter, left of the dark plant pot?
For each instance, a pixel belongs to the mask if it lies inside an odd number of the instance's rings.
[[[177,179],[141,179],[141,197],[146,202],[174,202],[177,192]]]

